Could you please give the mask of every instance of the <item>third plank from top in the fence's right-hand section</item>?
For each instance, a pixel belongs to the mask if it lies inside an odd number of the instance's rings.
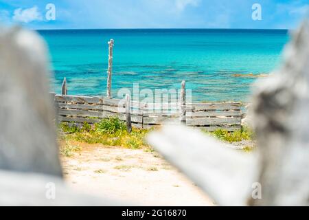
[[[240,124],[240,118],[187,118],[187,125]]]

